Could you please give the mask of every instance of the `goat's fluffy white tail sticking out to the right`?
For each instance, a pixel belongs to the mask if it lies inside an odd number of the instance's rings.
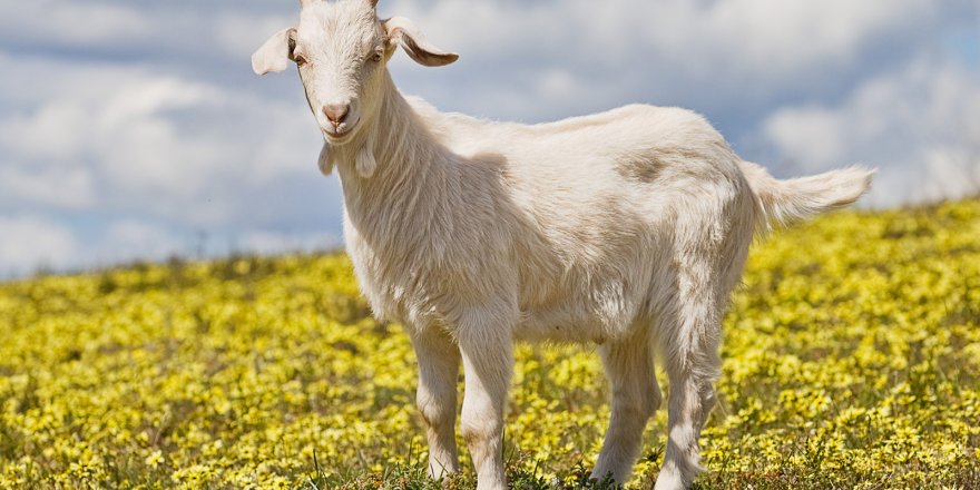
[[[762,210],[759,225],[763,229],[774,223],[788,225],[853,204],[871,186],[871,177],[875,173],[863,167],[850,167],[780,180],[762,166],[749,161],[742,161],[741,168]]]

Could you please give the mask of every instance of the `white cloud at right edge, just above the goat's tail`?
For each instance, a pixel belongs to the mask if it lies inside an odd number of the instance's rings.
[[[885,206],[980,192],[978,114],[980,74],[919,60],[839,105],[782,108],[762,128],[803,171],[881,167],[869,202]]]

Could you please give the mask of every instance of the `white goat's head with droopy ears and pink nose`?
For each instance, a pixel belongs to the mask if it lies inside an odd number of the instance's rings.
[[[301,0],[300,23],[276,32],[252,56],[259,75],[293,60],[313,117],[331,145],[369,126],[384,96],[385,63],[396,46],[425,66],[455,61],[429,46],[408,19],[379,20],[376,0]]]

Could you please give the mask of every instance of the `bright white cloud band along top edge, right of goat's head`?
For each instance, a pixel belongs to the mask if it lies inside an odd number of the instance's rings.
[[[600,65],[647,63],[637,53],[669,55],[672,62],[715,65],[747,74],[790,71],[823,61],[850,61],[885,36],[910,35],[968,6],[945,9],[930,0],[725,0],[606,2],[383,3],[382,13],[412,17],[437,45],[464,57],[579,55]],[[540,57],[530,60],[548,62]]]

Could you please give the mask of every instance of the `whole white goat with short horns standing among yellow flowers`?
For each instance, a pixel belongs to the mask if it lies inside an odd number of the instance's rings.
[[[595,342],[611,420],[592,476],[626,482],[670,381],[657,489],[699,471],[715,403],[721,321],[753,234],[853,203],[871,171],[776,180],[738,158],[700,116],[628,106],[523,126],[441,114],[405,99],[385,63],[457,59],[376,0],[301,0],[300,23],[253,56],[258,74],[298,65],[340,173],[344,236],[374,314],[405,325],[433,478],[459,469],[462,434],[479,489],[506,488],[501,435],[514,340]]]

